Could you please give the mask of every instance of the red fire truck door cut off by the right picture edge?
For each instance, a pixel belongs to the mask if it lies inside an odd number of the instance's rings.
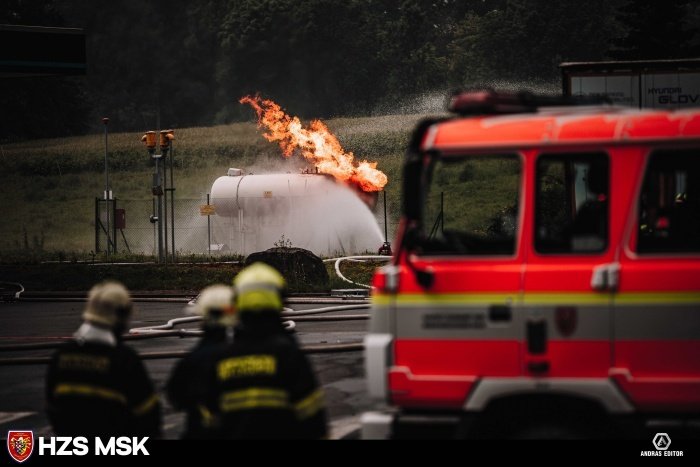
[[[698,156],[650,154],[620,260],[613,376],[642,410],[700,409]]]

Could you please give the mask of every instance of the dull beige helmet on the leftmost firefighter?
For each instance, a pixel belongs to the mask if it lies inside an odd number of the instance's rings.
[[[90,289],[83,319],[114,328],[129,319],[131,310],[131,297],[126,287],[119,282],[107,281]]]

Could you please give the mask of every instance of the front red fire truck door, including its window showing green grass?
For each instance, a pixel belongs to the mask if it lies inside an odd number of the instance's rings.
[[[440,161],[432,179],[427,238],[396,295],[390,387],[403,406],[458,408],[479,378],[521,375],[522,163],[515,155]]]

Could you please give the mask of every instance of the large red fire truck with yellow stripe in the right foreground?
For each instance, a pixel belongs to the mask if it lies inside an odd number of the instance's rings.
[[[569,104],[463,93],[416,128],[363,437],[700,427],[700,109]]]

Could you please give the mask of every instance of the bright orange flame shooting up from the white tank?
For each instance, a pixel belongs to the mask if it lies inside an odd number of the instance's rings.
[[[346,152],[340,141],[320,120],[313,120],[304,128],[298,117],[287,115],[275,102],[260,96],[245,96],[239,101],[250,104],[258,114],[258,127],[267,133],[263,137],[270,142],[277,141],[285,157],[290,157],[295,149],[318,171],[330,174],[344,183],[355,184],[362,191],[381,191],[388,179],[384,172],[377,170],[376,162],[355,161],[352,152]]]

